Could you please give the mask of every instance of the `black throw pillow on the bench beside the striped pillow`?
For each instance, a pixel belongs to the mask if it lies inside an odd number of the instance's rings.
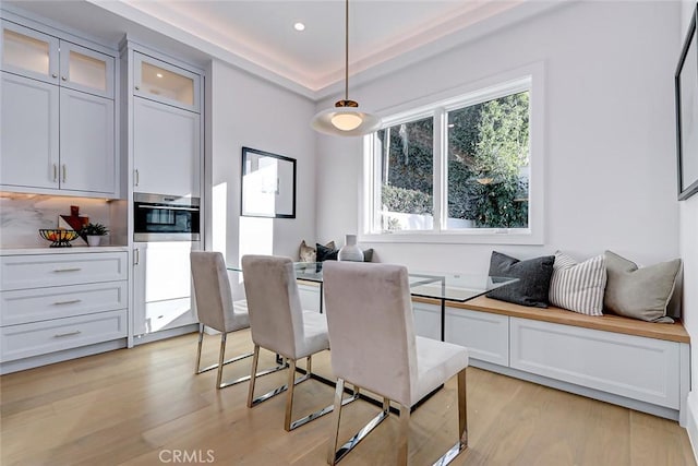
[[[513,277],[519,280],[488,292],[488,298],[515,304],[547,308],[547,291],[554,262],[554,255],[519,261],[501,252],[492,251],[490,276]]]

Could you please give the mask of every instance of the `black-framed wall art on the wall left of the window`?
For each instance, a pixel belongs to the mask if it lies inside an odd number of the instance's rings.
[[[296,159],[242,147],[241,215],[296,218]]]

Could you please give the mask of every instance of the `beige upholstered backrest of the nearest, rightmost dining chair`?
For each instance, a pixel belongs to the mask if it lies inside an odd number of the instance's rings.
[[[407,268],[330,261],[323,282],[334,374],[409,406],[418,372]]]

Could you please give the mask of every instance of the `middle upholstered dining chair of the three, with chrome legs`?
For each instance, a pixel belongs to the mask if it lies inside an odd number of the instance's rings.
[[[301,307],[293,263],[288,258],[244,255],[242,274],[254,343],[252,374],[256,371],[260,348],[276,353],[286,358],[289,365],[287,384],[256,398],[254,397],[255,378],[252,377],[248,392],[248,407],[251,408],[279,393],[287,392],[284,419],[284,428],[287,431],[330,413],[332,404],[303,418],[291,420],[294,385],[311,379],[312,356],[329,349],[325,315],[303,311]],[[305,374],[296,379],[297,362],[303,358],[306,360]],[[357,396],[358,391],[354,391],[354,396],[347,398],[344,403],[353,401]]]

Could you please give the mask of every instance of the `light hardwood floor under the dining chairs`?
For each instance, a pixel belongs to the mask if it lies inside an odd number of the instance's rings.
[[[218,342],[206,338],[205,360],[216,359]],[[217,391],[215,372],[194,375],[195,346],[192,334],[3,375],[0,464],[325,464],[332,416],[284,431],[284,395],[248,409],[246,383]],[[251,346],[248,332],[231,334],[228,355]],[[328,375],[328,359],[314,358],[313,370]],[[234,366],[228,375],[248,373],[250,359]],[[262,378],[257,393],[284,380],[285,372]],[[431,464],[455,443],[455,389],[454,380],[412,415],[411,464]],[[316,381],[298,385],[294,417],[330,404],[333,393]],[[346,407],[340,440],[376,409]],[[476,368],[468,425],[470,446],[455,465],[696,464],[676,422]],[[340,465],[395,464],[397,429],[386,420]]]

